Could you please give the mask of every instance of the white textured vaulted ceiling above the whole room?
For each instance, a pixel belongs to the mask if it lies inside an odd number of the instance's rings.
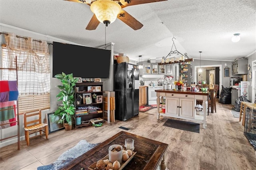
[[[106,43],[130,60],[160,59],[172,48],[188,57],[233,61],[256,51],[255,0],[167,0],[128,6],[126,12],[144,26],[133,30],[116,19],[106,27]],[[86,30],[90,6],[66,0],[0,0],[0,23],[70,42],[100,47],[105,25]],[[241,40],[231,42],[233,34]]]

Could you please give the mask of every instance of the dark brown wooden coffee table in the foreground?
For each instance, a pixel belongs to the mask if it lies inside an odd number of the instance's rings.
[[[124,145],[124,140],[126,138],[134,139],[134,152],[137,153],[124,167],[124,170],[155,170],[160,164],[162,170],[166,168],[164,154],[168,148],[168,144],[121,131],[88,150],[75,160],[72,160],[62,169],[80,170],[81,168],[84,168],[85,170],[88,170],[88,167],[91,164],[104,158],[108,154],[108,147],[110,145]]]

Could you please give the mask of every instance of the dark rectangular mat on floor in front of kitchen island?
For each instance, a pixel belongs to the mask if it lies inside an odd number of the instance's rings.
[[[186,121],[179,121],[174,119],[168,119],[163,126],[172,127],[180,130],[187,130],[190,132],[200,132],[200,124]]]

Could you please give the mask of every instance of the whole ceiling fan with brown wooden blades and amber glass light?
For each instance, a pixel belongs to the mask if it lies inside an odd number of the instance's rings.
[[[106,26],[108,26],[108,24],[114,22],[116,20],[116,18],[118,18],[119,20],[121,20],[122,22],[124,22],[125,24],[130,26],[132,29],[139,30],[140,28],[142,28],[143,24],[141,24],[133,16],[128,14],[128,12],[126,12],[125,10],[122,10],[122,8],[125,8],[126,6],[147,4],[147,3],[151,3],[151,2],[160,2],[160,1],[166,1],[166,0],[66,0],[66,1],[84,3],[84,4],[88,4],[90,6],[94,15],[92,16],[90,22],[86,26],[86,30],[95,30],[98,27],[98,25],[100,24],[100,22],[102,22],[102,23],[106,24]],[[102,4],[102,3],[111,3],[111,8],[107,9],[108,4]],[[118,6],[116,4],[118,4],[120,6]],[[96,7],[98,8],[98,6],[101,9],[96,9]],[[103,10],[103,8],[104,8],[104,10]],[[104,18],[100,18],[100,16],[103,16],[104,14],[96,15],[96,12],[98,10],[98,12],[103,11],[103,12],[105,12],[105,14],[108,14],[108,16],[109,16],[109,14],[112,13],[112,11],[108,12],[109,9],[110,10],[116,9],[117,15],[113,14],[113,17],[108,20],[104,20]]]

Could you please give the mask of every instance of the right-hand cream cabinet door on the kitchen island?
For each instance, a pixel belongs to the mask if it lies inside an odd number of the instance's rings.
[[[194,99],[180,99],[179,103],[180,117],[188,117],[195,119],[195,100]]]

